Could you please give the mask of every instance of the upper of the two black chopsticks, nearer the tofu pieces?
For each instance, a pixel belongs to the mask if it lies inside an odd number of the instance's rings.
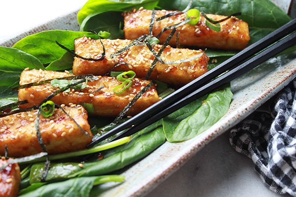
[[[132,125],[136,125],[140,122],[147,120],[151,116],[150,114],[152,113],[161,112],[162,110],[167,108],[167,106],[173,105],[176,100],[180,100],[184,98],[185,95],[187,95],[188,93],[197,90],[198,88],[202,87],[206,83],[210,82],[213,78],[219,76],[220,74],[224,73],[230,68],[245,62],[247,59],[249,59],[256,53],[258,53],[262,49],[268,47],[269,45],[273,44],[274,42],[278,41],[280,38],[288,35],[289,33],[292,33],[293,31],[295,31],[295,26],[296,26],[296,19],[292,20],[291,22],[287,23],[281,28],[277,29],[273,33],[268,34],[258,42],[252,44],[251,46],[237,53],[235,56],[229,58],[219,66],[216,66],[212,70],[206,72],[205,74],[201,75],[200,77],[186,84],[185,86],[178,89],[173,94],[166,97],[165,99],[158,101],[157,103],[153,104],[152,106],[148,107],[147,109],[143,110],[142,112],[134,116],[133,118],[127,120],[126,122],[122,123],[121,125],[117,126],[111,131],[100,136],[100,138],[88,144],[88,147],[91,147],[96,143],[104,139],[107,139],[108,137],[111,137],[112,135],[116,134],[119,131],[128,129]]]

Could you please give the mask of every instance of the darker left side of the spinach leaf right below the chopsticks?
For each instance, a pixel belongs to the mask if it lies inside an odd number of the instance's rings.
[[[187,104],[185,107],[182,107],[181,109],[163,118],[162,127],[166,139],[169,142],[172,142],[171,138],[173,137],[175,129],[180,124],[180,122],[193,114],[201,106],[202,101],[206,98],[207,96],[203,96],[202,98]]]

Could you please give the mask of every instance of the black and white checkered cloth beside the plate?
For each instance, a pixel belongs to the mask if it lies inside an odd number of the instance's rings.
[[[270,190],[296,197],[296,80],[230,131]],[[263,112],[262,112],[263,111]]]

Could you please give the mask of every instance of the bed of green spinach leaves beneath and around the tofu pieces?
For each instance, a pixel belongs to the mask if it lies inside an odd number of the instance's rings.
[[[89,0],[78,12],[81,31],[102,30],[111,33],[111,38],[121,34],[120,12],[139,8],[178,9],[186,7],[189,0]],[[249,6],[252,5],[252,6]],[[291,19],[269,0],[194,0],[193,6],[206,13],[230,15],[242,12],[241,19],[249,23],[251,43],[274,31]],[[17,87],[21,71],[31,69],[64,70],[71,69],[73,57],[59,46],[55,40],[69,49],[74,49],[74,39],[86,35],[97,38],[88,32],[45,31],[29,35],[13,48],[0,47],[0,106],[17,99],[16,93],[9,94]],[[209,64],[209,69],[233,56],[236,51],[210,50],[206,54],[218,63]],[[45,67],[47,66],[47,67]],[[104,159],[84,163],[52,163],[46,181],[39,183],[43,164],[34,164],[30,176],[23,180],[23,185],[31,184],[22,190],[24,196],[85,196],[89,195],[98,177],[110,173],[146,157],[166,140],[177,142],[187,140],[215,124],[228,110],[232,99],[229,86],[222,87],[208,96],[204,96],[172,113],[148,128],[133,135],[133,140],[120,147],[104,151]],[[108,120],[107,120],[108,122]],[[99,122],[98,125],[102,125]],[[162,127],[161,127],[162,126]],[[91,176],[91,177],[81,177]],[[72,178],[67,181],[65,179]],[[99,181],[100,182],[100,181]],[[80,192],[79,192],[80,191]]]

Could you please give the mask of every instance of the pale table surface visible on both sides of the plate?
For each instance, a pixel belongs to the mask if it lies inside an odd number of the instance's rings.
[[[82,6],[86,0],[1,1],[0,40]],[[7,8],[7,9],[6,9]],[[147,197],[288,197],[263,185],[249,158],[235,152],[228,132],[196,154]]]

